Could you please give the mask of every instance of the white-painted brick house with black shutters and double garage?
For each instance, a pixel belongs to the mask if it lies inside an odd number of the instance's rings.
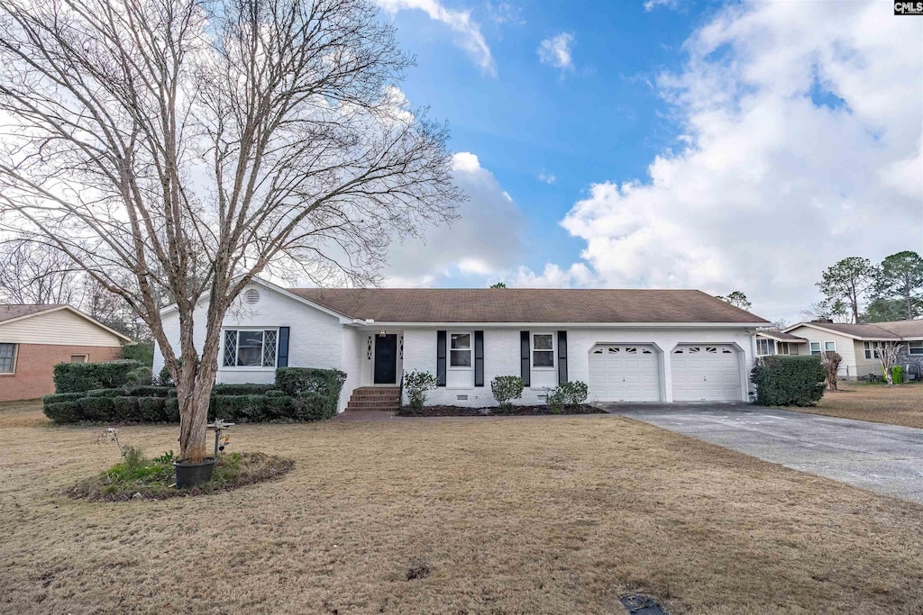
[[[175,308],[162,318],[177,340]],[[599,402],[746,401],[756,330],[767,324],[699,290],[282,289],[255,280],[224,318],[217,381],[338,368],[347,374],[341,409],[374,387],[396,392],[414,370],[437,376],[427,403],[439,405],[496,404],[497,375],[522,377],[522,404],[574,380]],[[154,372],[162,365],[155,349]]]

